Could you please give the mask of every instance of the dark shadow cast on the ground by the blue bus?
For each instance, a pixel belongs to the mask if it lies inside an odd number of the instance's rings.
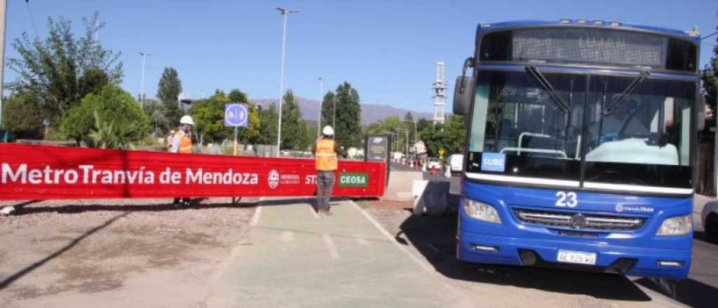
[[[455,257],[456,213],[445,217],[410,216],[399,227],[439,273],[451,279],[585,294],[600,299],[648,302],[648,297],[625,276],[536,267],[471,264]],[[402,244],[408,244],[406,241]]]

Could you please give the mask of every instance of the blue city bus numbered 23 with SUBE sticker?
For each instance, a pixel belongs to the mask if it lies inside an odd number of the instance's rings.
[[[457,258],[685,279],[699,46],[615,21],[480,24],[454,90]]]

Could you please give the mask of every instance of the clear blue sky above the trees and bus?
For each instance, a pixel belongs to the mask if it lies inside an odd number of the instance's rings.
[[[9,0],[6,55],[22,32],[33,34],[24,0]],[[434,63],[447,63],[447,79],[471,55],[477,23],[561,17],[604,19],[675,29],[715,31],[718,1],[98,1],[30,0],[39,37],[48,16],[63,15],[78,32],[81,17],[100,12],[100,39],[121,51],[125,90],[140,90],[139,51],[156,54],[146,64],[146,92],[157,93],[164,67],[175,67],[190,97],[239,88],[250,98],[279,95],[282,17],[289,16],[285,88],[316,99],[317,75],[347,80],[365,103],[430,112]],[[701,67],[715,37],[701,45]],[[16,74],[6,71],[6,82]],[[449,91],[451,92],[451,91]],[[450,106],[447,106],[449,110]]]

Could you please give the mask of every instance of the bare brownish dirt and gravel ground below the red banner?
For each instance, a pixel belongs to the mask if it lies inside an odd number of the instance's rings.
[[[0,307],[205,307],[256,200],[169,202],[0,202]]]

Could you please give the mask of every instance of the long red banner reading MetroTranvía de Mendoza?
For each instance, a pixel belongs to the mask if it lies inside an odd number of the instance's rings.
[[[313,196],[314,160],[0,144],[0,199]],[[340,161],[333,196],[379,197],[386,164]]]

